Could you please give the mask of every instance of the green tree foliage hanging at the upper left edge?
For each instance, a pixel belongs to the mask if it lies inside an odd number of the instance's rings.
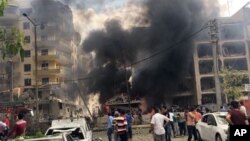
[[[16,28],[0,29],[1,53],[2,58],[12,58],[20,55],[21,61],[24,60],[24,36]]]

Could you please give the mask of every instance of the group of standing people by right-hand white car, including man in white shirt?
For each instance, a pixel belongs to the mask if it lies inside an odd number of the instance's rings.
[[[188,135],[197,140],[195,124],[202,118],[199,108],[178,109],[174,111],[166,106],[152,109],[151,129],[154,141],[171,141],[171,138]]]

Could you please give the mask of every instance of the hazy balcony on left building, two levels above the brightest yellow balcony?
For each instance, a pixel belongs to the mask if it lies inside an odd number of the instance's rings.
[[[71,44],[68,41],[59,41],[59,40],[45,40],[45,41],[37,41],[38,49],[43,48],[53,48],[57,50],[61,50],[66,53],[72,53],[73,49],[71,48]]]

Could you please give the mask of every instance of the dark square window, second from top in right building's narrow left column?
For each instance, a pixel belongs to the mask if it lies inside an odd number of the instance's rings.
[[[200,74],[213,73],[213,60],[199,61]]]

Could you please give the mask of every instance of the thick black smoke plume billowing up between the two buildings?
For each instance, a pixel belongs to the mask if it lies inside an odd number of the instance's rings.
[[[131,64],[187,37],[210,16],[219,13],[215,2],[205,0],[147,0],[148,27],[124,30],[117,20],[109,20],[104,30],[93,31],[83,42],[85,52],[95,52],[95,67],[86,81],[88,92],[100,92],[100,102],[126,92],[124,86],[133,77],[131,93],[145,97],[149,105],[160,104],[177,93],[188,72],[193,39],[157,57],[133,66],[125,79],[123,65]],[[213,11],[213,12],[211,12]],[[212,15],[211,15],[212,14]]]

